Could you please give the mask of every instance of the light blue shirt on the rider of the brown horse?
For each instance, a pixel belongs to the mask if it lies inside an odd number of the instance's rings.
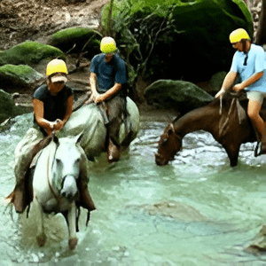
[[[244,66],[245,58],[244,52],[236,51],[230,71],[239,74],[240,82],[244,82],[253,74],[263,71],[262,78],[245,89],[266,92],[266,55],[262,46],[251,44],[250,50],[247,52],[246,66]]]

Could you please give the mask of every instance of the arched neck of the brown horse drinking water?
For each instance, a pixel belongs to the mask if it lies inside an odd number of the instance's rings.
[[[176,134],[183,138],[186,134],[197,130],[213,133],[210,125],[219,119],[217,110],[210,106],[204,106],[184,114],[174,122]]]

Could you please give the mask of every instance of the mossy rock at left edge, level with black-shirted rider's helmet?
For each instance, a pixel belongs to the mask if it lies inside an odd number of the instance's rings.
[[[18,87],[31,89],[44,79],[44,75],[36,72],[31,66],[0,66],[0,81],[4,90],[14,91]]]

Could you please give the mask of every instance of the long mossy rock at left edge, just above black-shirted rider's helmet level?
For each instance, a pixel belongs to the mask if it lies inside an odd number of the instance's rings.
[[[25,42],[0,51],[0,66],[7,64],[35,66],[43,59],[66,59],[63,51],[51,45]]]

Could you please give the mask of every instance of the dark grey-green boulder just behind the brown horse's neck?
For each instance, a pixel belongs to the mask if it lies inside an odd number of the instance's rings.
[[[191,82],[159,80],[145,89],[149,105],[174,108],[180,113],[205,106],[214,98]]]

